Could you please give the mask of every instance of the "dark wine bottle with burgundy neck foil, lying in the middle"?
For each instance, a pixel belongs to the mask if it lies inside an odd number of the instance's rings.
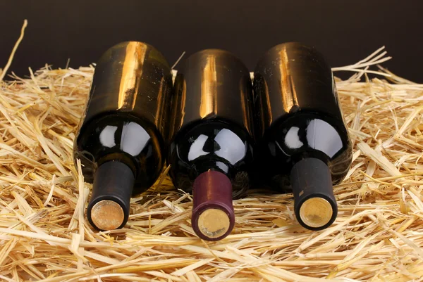
[[[192,228],[218,241],[235,224],[233,198],[250,185],[252,83],[245,65],[216,49],[178,68],[168,152],[173,184],[193,193]]]

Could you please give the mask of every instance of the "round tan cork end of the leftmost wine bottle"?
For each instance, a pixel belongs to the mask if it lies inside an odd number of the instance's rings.
[[[100,200],[91,209],[91,220],[97,229],[118,229],[125,220],[125,212],[114,200]]]

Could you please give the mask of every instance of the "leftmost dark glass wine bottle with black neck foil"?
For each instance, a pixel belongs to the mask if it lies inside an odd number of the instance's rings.
[[[124,226],[130,197],[159,177],[171,87],[171,68],[148,44],[123,42],[99,59],[74,145],[92,183],[87,218],[97,229]]]

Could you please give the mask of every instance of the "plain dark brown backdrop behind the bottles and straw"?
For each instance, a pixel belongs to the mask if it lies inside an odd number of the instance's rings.
[[[28,75],[45,63],[88,65],[125,40],[156,46],[173,64],[183,51],[232,51],[252,69],[262,52],[284,41],[317,47],[332,66],[355,63],[385,45],[396,74],[423,82],[423,1],[0,0],[0,66],[29,25],[11,70]]]

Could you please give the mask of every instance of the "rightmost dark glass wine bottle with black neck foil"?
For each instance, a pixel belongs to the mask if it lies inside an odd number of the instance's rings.
[[[338,212],[333,184],[352,160],[331,68],[310,46],[281,44],[257,63],[254,89],[260,181],[292,188],[298,222],[325,229]]]

